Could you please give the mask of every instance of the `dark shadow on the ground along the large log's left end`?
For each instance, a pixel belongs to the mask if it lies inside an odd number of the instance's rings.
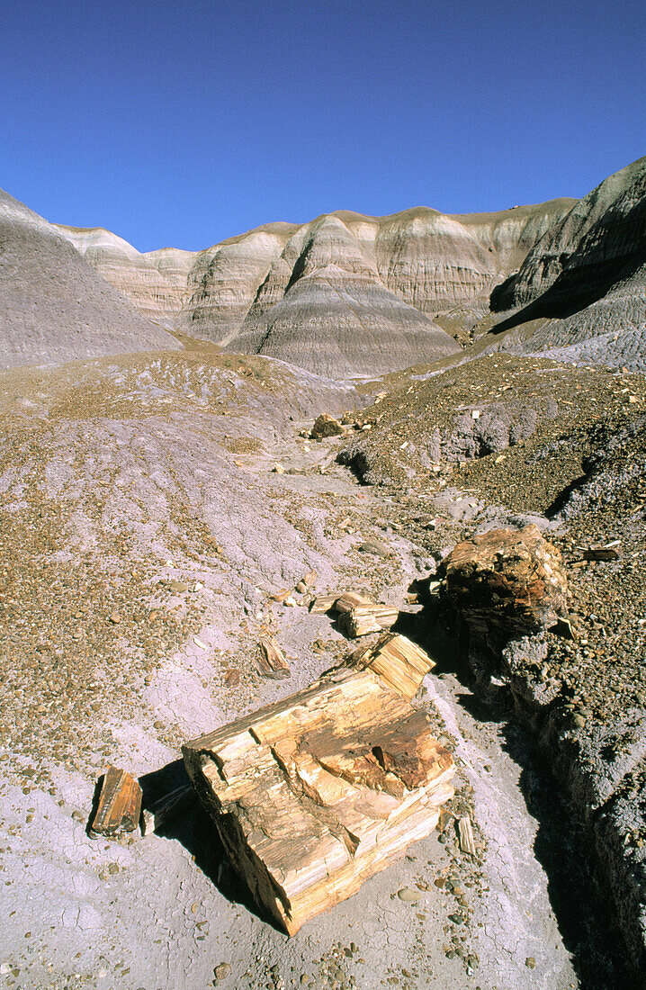
[[[167,763],[152,773],[139,777],[143,792],[142,807],[151,810],[165,794],[183,784],[189,777],[181,759]],[[190,853],[198,869],[213,883],[231,904],[239,904],[261,922],[271,925],[282,935],[275,919],[262,911],[251,892],[238,874],[231,868],[229,856],[218,834],[215,823],[204,810],[197,795],[195,800],[167,822],[158,832],[163,839],[179,842]],[[143,840],[145,841],[145,840]],[[285,936],[287,938],[287,936]]]

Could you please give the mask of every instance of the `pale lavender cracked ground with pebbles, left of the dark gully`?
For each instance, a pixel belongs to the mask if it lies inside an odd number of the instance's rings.
[[[449,468],[409,464],[404,482],[368,487],[336,463],[343,440],[299,436],[319,412],[397,385],[359,395],[206,345],[2,376],[3,985],[629,985],[540,756],[465,686],[449,631],[406,603],[465,532],[430,501]],[[500,478],[500,463],[490,470]],[[370,538],[387,555],[360,550]],[[287,940],[256,916],[199,809],[145,840],[92,841],[85,829],[106,763],[161,791],[181,779],[187,738],[346,654],[295,591],[311,570],[317,591],[401,606],[403,632],[437,660],[417,703],[456,753],[449,811],[474,815],[478,855],[459,851],[449,820]],[[257,673],[268,631],[288,680]]]

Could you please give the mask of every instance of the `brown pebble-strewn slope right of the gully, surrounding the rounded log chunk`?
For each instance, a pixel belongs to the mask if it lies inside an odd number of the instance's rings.
[[[402,531],[442,561],[437,577],[456,538],[477,542],[501,526],[538,526],[563,555],[565,622],[555,617],[533,636],[508,632],[497,644],[484,626],[476,629],[473,601],[456,609],[449,599],[443,612],[440,581],[428,617],[434,636],[445,623],[453,628],[476,693],[494,707],[510,705],[534,734],[585,824],[594,873],[643,971],[644,379],[495,354],[428,376],[413,369],[391,376],[395,382],[398,391],[356,415],[358,430],[338,456],[399,504],[405,492],[416,503]],[[508,422],[521,411],[524,422],[532,413],[532,429],[512,443]],[[436,461],[429,449],[439,450]],[[434,569],[432,559],[427,565]],[[470,632],[460,639],[464,620]]]

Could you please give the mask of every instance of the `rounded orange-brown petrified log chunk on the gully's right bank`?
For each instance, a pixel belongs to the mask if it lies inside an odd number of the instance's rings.
[[[438,573],[450,603],[481,636],[524,636],[567,615],[561,554],[536,526],[490,530],[458,544]]]

